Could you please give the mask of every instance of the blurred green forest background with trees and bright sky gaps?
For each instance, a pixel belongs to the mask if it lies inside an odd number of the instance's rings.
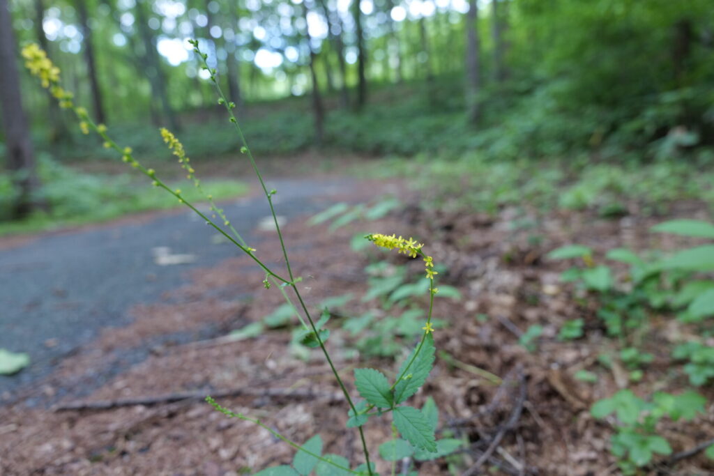
[[[46,49],[77,103],[143,160],[169,156],[159,126],[179,133],[196,159],[238,149],[231,128],[221,126],[206,71],[193,59],[192,38],[237,103],[258,156],[319,150],[333,166],[348,153],[398,156],[446,164],[442,172],[460,176],[492,171],[484,163],[521,164],[506,174],[512,176],[542,171],[545,161],[561,161],[556,169],[609,162],[631,169],[628,180],[646,173],[644,164],[667,162],[652,180],[670,177],[677,193],[703,193],[692,189],[696,177],[676,177],[682,167],[701,170],[714,160],[708,0],[3,0],[0,6],[11,11],[14,34],[14,45],[3,42],[2,58],[17,61],[22,99],[16,105],[4,98],[3,142],[24,134],[9,122],[26,122],[34,144],[28,158],[16,158],[0,143],[4,232],[103,218],[95,217],[94,203],[112,196],[131,200],[105,207],[106,217],[163,203],[127,178],[85,173],[111,151],[82,135],[29,78],[19,59],[28,42]],[[82,173],[66,168],[78,163]],[[236,186],[216,184],[217,196]],[[595,195],[578,191],[570,201]],[[24,224],[9,222],[28,215]]]

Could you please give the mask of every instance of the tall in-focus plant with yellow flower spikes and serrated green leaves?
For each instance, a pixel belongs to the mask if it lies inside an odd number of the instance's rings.
[[[428,280],[428,312],[426,323],[424,323],[423,333],[418,340],[416,347],[411,351],[408,357],[403,361],[396,379],[390,382],[386,375],[380,370],[373,368],[358,368],[354,371],[354,386],[361,398],[350,395],[347,385],[343,378],[335,368],[333,361],[326,348],[326,341],[329,338],[329,330],[325,327],[328,319],[328,313],[322,313],[321,318],[316,320],[313,318],[313,312],[308,308],[301,296],[298,283],[301,278],[297,276],[291,267],[290,259],[286,244],[283,241],[280,224],[276,211],[273,206],[273,196],[276,195],[275,189],[268,190],[251,149],[248,147],[246,138],[243,136],[241,126],[233,113],[236,104],[229,101],[221,90],[218,83],[216,70],[211,69],[206,63],[207,55],[203,54],[198,48],[198,41],[190,40],[193,46],[193,52],[200,59],[204,70],[208,71],[209,78],[216,88],[218,93],[218,103],[225,106],[228,113],[228,119],[236,129],[240,141],[242,143],[241,153],[247,156],[248,161],[253,168],[253,171],[258,178],[262,191],[266,196],[268,205],[271,209],[273,223],[278,233],[278,238],[281,243],[284,270],[275,270],[264,263],[258,250],[251,248],[240,233],[231,225],[231,222],[226,217],[223,210],[216,205],[213,198],[203,192],[201,182],[196,178],[196,171],[191,165],[191,159],[186,155],[181,142],[174,136],[171,131],[162,128],[161,137],[169,146],[174,155],[178,158],[178,163],[181,168],[186,171],[186,178],[193,183],[198,191],[206,198],[206,201],[211,206],[211,213],[203,213],[196,208],[190,201],[186,199],[180,189],[170,188],[164,181],[157,176],[156,171],[151,168],[146,168],[135,157],[131,148],[122,147],[117,144],[109,136],[109,131],[106,126],[101,123],[95,123],[87,113],[86,109],[77,106],[74,102],[74,96],[71,92],[66,91],[61,86],[60,71],[51,63],[45,52],[36,44],[29,44],[22,50],[22,56],[26,59],[26,66],[31,71],[31,74],[38,77],[44,88],[47,88],[52,96],[59,101],[61,107],[74,111],[79,120],[81,131],[89,134],[94,132],[98,134],[104,141],[104,147],[114,149],[121,156],[121,160],[127,163],[137,171],[151,180],[153,186],[163,189],[166,193],[171,194],[180,203],[183,203],[188,208],[200,216],[206,225],[214,228],[218,233],[221,233],[226,239],[230,240],[233,245],[246,253],[258,266],[265,271],[265,279],[263,285],[266,289],[278,288],[285,296],[288,303],[296,309],[296,315],[300,320],[301,335],[300,342],[311,348],[320,348],[324,358],[330,365],[332,373],[340,386],[342,393],[347,402],[348,421],[347,427],[355,428],[358,432],[363,449],[363,462],[352,467],[351,462],[340,455],[323,455],[323,442],[320,435],[315,435],[307,440],[303,445],[289,440],[287,437],[279,434],[268,425],[264,424],[256,418],[242,413],[232,412],[213,400],[212,397],[206,397],[206,401],[213,405],[216,410],[222,412],[228,417],[236,417],[241,420],[253,422],[255,425],[263,427],[271,432],[275,437],[283,440],[288,445],[294,447],[296,455],[291,466],[282,465],[276,467],[268,467],[259,472],[259,475],[308,475],[315,471],[318,475],[376,475],[376,465],[371,459],[368,451],[368,443],[366,442],[363,427],[368,423],[370,417],[383,417],[391,414],[393,438],[387,442],[383,442],[379,447],[379,453],[384,460],[391,462],[391,474],[396,474],[396,462],[405,457],[412,457],[413,460],[432,460],[436,457],[448,455],[456,450],[458,445],[461,445],[460,440],[442,439],[436,440],[435,432],[438,421],[438,409],[432,399],[428,399],[426,404],[421,409],[406,405],[407,400],[415,395],[421,386],[426,382],[434,362],[434,341],[433,341],[433,325],[432,313],[434,296],[438,293],[438,288],[434,285],[435,276],[438,274],[434,270],[433,258],[424,252],[423,243],[418,243],[413,238],[403,238],[396,234],[386,235],[381,233],[373,233],[365,236],[366,240],[371,241],[374,245],[388,250],[397,250],[398,253],[403,253],[409,258],[418,258],[423,260],[425,268],[425,278]],[[210,216],[208,216],[210,215]],[[286,293],[286,288],[292,290],[292,295]],[[411,474],[416,474],[413,472]]]

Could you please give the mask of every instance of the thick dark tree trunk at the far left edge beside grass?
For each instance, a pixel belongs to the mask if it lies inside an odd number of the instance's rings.
[[[0,104],[5,128],[7,169],[19,193],[11,218],[25,218],[40,202],[36,200],[39,180],[27,118],[20,97],[20,79],[15,56],[15,39],[7,0],[0,0]]]

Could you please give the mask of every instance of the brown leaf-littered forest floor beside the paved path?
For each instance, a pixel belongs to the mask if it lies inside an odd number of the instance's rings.
[[[434,260],[448,268],[439,275],[440,283],[461,292],[459,300],[436,300],[435,316],[447,321],[435,333],[436,347],[444,353],[415,398],[421,404],[433,396],[441,410],[439,431],[465,437],[469,445],[448,460],[419,463],[420,474],[460,474],[482,460],[474,474],[618,474],[608,450],[611,428],[594,420],[589,408],[628,383],[623,384],[623,369],[617,365],[609,370],[597,366],[598,355],[611,344],[603,337],[596,310],[586,299],[574,299],[570,287],[560,283],[563,263],[544,256],[570,243],[590,245],[596,257],[618,246],[675,248],[681,238],[648,232],[663,217],[605,220],[588,212],[553,212],[539,221],[543,239],[534,241],[529,239],[533,230],[513,228],[509,208],[495,216],[446,213],[425,208],[418,193],[394,182],[353,183],[323,193],[319,200],[318,188],[313,188],[311,209],[301,213],[299,201],[293,201],[284,226],[308,305],[368,289],[368,257],[350,245],[354,233],[365,228],[420,238]],[[382,193],[398,193],[404,206],[376,221],[334,231],[328,224],[307,223],[318,203],[326,208],[336,201],[373,201]],[[670,215],[692,218],[699,213],[700,204],[683,202],[675,203]],[[261,257],[271,263],[280,260],[278,239],[269,227],[253,223],[249,237]],[[234,255],[194,266],[183,273],[185,283],[163,291],[162,301],[131,305],[124,311],[131,319],[101,328],[96,338],[64,355],[51,373],[6,392],[0,407],[0,473],[234,475],[291,461],[290,447],[261,428],[219,414],[203,402],[209,394],[233,411],[259,417],[291,440],[303,442],[319,433],[324,452],[362,462],[356,433],[344,427],[345,402],[318,351],[311,351],[306,361],[294,358],[289,328],[243,340],[226,338],[283,302],[278,290],[263,288],[264,273],[248,258]],[[390,260],[409,266],[404,259]],[[421,266],[410,270],[421,274]],[[357,299],[340,314],[359,315],[368,308],[369,303]],[[558,328],[573,318],[585,320],[586,337],[558,341]],[[330,326],[345,319],[333,318]],[[529,353],[518,341],[535,323],[543,325],[543,335],[538,352]],[[643,350],[653,353],[655,361],[640,383],[629,386],[636,392],[657,381],[676,391],[685,381],[665,378],[669,355],[661,343],[682,330],[657,316],[653,329]],[[365,365],[350,351],[351,339],[335,328],[328,341],[348,382],[353,368]],[[372,364],[395,366],[392,358]],[[498,375],[501,384],[484,378],[479,369]],[[598,383],[575,380],[578,370],[597,373]],[[711,389],[703,393],[713,400]],[[714,435],[714,412],[693,422],[667,423],[661,433],[676,455]],[[386,420],[370,420],[366,437],[373,455],[389,435]],[[378,470],[387,474],[389,468],[381,463]],[[646,472],[711,475],[714,466],[703,455],[693,455],[657,460]]]

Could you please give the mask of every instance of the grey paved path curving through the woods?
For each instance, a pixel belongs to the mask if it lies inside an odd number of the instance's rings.
[[[278,190],[278,215],[290,221],[326,208],[332,193],[343,193],[356,183],[346,178],[286,179],[267,185]],[[253,230],[269,216],[265,198],[238,200],[224,208],[248,243],[256,243],[242,231]],[[47,375],[102,328],[129,323],[129,308],[155,303],[165,291],[188,283],[186,270],[241,253],[230,243],[216,244],[215,235],[187,210],[141,223],[48,235],[0,250],[0,348],[29,353],[32,359],[19,374],[0,376],[0,395]],[[159,246],[168,246],[171,253],[191,253],[196,260],[157,265],[152,249]],[[49,347],[48,340],[56,345]]]

